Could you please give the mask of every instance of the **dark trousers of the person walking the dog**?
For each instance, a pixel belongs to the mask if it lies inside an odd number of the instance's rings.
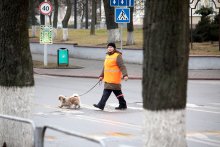
[[[111,89],[104,89],[103,90],[102,98],[99,101],[98,106],[100,108],[104,108],[105,107],[105,104],[106,104],[109,96],[111,95],[112,91],[113,91],[113,93],[115,94],[115,96],[117,97],[117,99],[119,101],[119,106],[121,106],[121,107],[127,106],[126,105],[126,101],[124,99],[124,96],[122,94],[122,91],[121,90],[111,90]]]

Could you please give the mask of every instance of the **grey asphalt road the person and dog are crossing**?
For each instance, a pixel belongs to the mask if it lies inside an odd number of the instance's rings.
[[[126,111],[116,111],[117,99],[109,98],[104,111],[93,108],[102,95],[103,84],[81,97],[81,109],[60,109],[58,96],[82,94],[96,84],[96,79],[35,75],[33,120],[38,126],[53,125],[102,139],[107,147],[141,147],[143,108],[141,80],[122,82],[128,103]],[[187,143],[189,147],[220,146],[220,81],[188,81]],[[96,143],[51,130],[45,146],[98,147]]]

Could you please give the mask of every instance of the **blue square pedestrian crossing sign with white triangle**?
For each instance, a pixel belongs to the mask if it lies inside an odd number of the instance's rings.
[[[116,23],[130,23],[130,8],[115,8]]]

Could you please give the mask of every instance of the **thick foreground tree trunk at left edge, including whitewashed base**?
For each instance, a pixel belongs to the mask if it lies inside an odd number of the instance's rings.
[[[29,0],[0,2],[0,112],[23,118],[30,118],[34,97],[28,5]],[[0,146],[33,146],[30,125],[0,119],[0,130]]]

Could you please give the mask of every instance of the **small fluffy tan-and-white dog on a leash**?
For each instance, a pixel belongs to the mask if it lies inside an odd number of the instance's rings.
[[[62,108],[63,106],[71,108],[74,106],[75,109],[80,108],[80,97],[78,94],[73,94],[72,96],[66,97],[64,95],[59,96],[59,100],[61,105],[59,106]]]

